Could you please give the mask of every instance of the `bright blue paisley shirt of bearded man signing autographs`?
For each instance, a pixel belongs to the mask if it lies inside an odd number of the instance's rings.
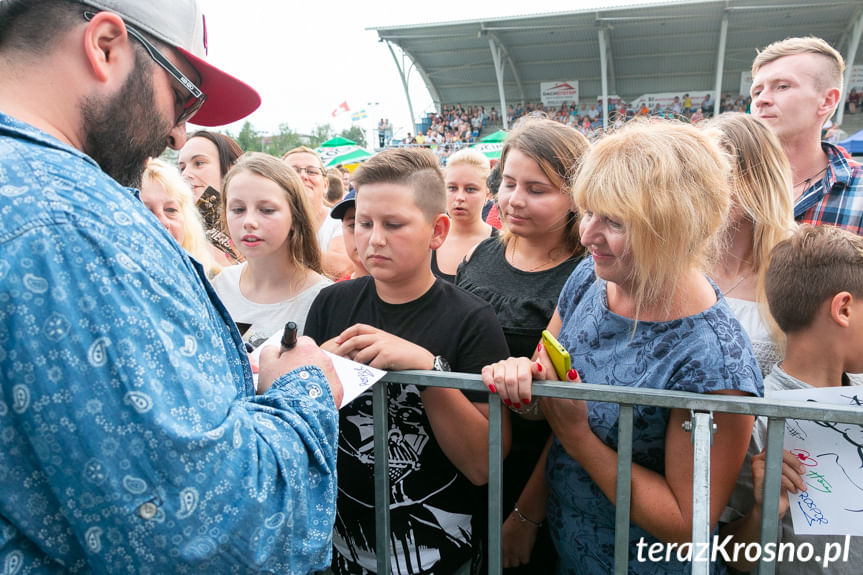
[[[132,192],[0,114],[0,572],[326,566],[329,386],[256,396],[240,345]]]

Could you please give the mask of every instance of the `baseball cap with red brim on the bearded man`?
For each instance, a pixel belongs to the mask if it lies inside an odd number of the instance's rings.
[[[261,96],[204,59],[207,55],[207,23],[197,0],[80,0],[83,4],[114,12],[124,21],[173,46],[201,76],[198,87],[207,101],[190,123],[223,126],[245,118],[261,105]]]

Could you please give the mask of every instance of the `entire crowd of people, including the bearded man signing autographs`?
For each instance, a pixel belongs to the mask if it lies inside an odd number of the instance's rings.
[[[764,48],[751,97],[708,121],[686,94],[615,104],[632,121],[602,134],[596,106],[517,105],[496,166],[464,149],[442,168],[426,145],[500,119],[456,105],[420,145],[328,173],[307,147],[187,135],[260,103],[203,59],[195,0],[103,4],[0,4],[4,572],[377,572],[372,392],[343,405],[338,356],[488,388],[388,385],[390,572],[500,553],[507,573],[608,573],[618,406],[534,386],[761,397],[863,372],[863,166],[822,140],[844,71],[823,40]],[[266,345],[287,322],[296,343]],[[690,539],[688,413],[633,409],[630,572],[690,568],[633,559]],[[766,426],[714,421],[710,528],[758,541]],[[781,473],[781,539],[825,541],[788,521],[800,461]],[[824,572],[777,571],[804,568]]]

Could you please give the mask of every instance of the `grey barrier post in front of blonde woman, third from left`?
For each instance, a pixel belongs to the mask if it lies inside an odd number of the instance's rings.
[[[632,406],[621,405],[617,417],[617,486],[615,487],[614,572],[629,572],[629,505],[632,495]]]

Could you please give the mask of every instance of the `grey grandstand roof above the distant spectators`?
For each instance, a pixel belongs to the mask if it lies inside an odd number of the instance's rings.
[[[529,3],[526,3],[529,5]],[[739,93],[756,48],[789,36],[820,36],[847,59],[860,0],[654,2],[550,14],[372,28],[413,61],[441,104],[500,102],[492,46],[502,56],[507,103],[538,102],[540,82],[578,80],[581,98],[602,93],[600,30],[608,94],[713,90],[723,18],[722,92]],[[863,64],[863,42],[856,50]]]

